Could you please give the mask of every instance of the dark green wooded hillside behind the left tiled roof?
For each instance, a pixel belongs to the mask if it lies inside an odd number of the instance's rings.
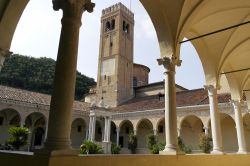
[[[56,61],[51,58],[33,58],[13,54],[5,60],[0,73],[0,84],[51,94]],[[95,85],[93,78],[76,73],[75,99],[80,100]]]

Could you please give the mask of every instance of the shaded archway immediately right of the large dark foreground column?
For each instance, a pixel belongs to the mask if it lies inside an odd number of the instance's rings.
[[[86,122],[82,118],[76,118],[71,124],[71,146],[79,149],[82,141],[86,138]]]

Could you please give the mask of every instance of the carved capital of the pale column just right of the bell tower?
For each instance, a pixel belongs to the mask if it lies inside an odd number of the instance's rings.
[[[172,57],[163,57],[160,59],[157,59],[158,65],[163,65],[164,68],[167,70],[167,72],[175,72],[175,66],[181,65],[181,60],[176,60],[176,58]]]

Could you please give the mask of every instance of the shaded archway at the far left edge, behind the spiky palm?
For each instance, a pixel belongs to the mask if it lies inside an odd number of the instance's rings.
[[[0,111],[0,144],[4,144],[9,138],[8,129],[13,126],[20,126],[20,114],[14,109]]]

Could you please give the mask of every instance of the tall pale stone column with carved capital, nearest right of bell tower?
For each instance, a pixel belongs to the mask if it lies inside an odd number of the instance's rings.
[[[175,59],[164,57],[158,59],[158,64],[165,68],[165,135],[166,146],[161,154],[176,155],[179,148],[177,144],[177,114],[175,89]],[[179,62],[180,65],[180,62]]]

